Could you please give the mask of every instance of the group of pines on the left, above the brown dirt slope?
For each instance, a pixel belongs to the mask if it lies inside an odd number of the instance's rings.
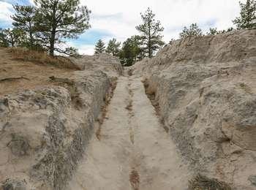
[[[27,47],[77,55],[77,49],[67,47],[64,39],[77,38],[90,28],[91,11],[79,0],[34,0],[34,6],[14,5],[12,28],[0,29],[0,47]]]

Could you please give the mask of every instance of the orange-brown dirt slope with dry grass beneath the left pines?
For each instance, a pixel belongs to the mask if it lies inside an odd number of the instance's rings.
[[[18,50],[13,48],[0,48],[0,96],[46,86],[59,86],[59,83],[49,80],[49,77],[69,78],[74,73],[74,69],[57,67],[54,64],[20,61],[10,50],[18,53]],[[21,56],[22,53],[19,53]],[[24,57],[26,58],[26,55]]]

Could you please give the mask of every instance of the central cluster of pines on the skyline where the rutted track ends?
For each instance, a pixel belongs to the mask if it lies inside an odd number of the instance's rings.
[[[162,31],[164,28],[161,26],[159,20],[155,20],[155,14],[151,9],[147,9],[144,14],[140,14],[143,23],[136,26],[140,35],[129,37],[121,46],[121,42],[110,39],[107,47],[102,39],[99,39],[95,45],[95,54],[109,53],[112,56],[118,56],[121,64],[124,66],[131,66],[136,61],[143,58],[152,58],[154,54],[165,45],[162,40]]]

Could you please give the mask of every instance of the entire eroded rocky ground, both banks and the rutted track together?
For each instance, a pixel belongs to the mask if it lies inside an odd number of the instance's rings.
[[[256,189],[256,30],[71,61],[0,48],[0,190]]]

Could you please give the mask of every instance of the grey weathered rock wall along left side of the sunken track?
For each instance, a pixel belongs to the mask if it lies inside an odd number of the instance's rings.
[[[72,177],[122,73],[116,58],[106,55],[72,61],[87,69],[50,77],[54,86],[0,97],[0,189],[62,190]]]

